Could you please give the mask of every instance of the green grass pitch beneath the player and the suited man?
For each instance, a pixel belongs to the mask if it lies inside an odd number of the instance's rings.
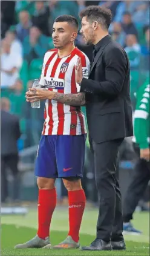
[[[1,255],[113,255],[113,256],[146,256],[149,255],[149,214],[138,213],[134,215],[134,225],[143,231],[140,236],[125,236],[126,251],[87,252],[79,249],[14,249],[18,243],[23,243],[36,234],[37,212],[29,211],[27,215],[1,217]],[[86,209],[80,230],[80,244],[89,245],[95,238],[97,209]],[[64,240],[68,232],[67,208],[56,208],[51,223],[51,245]]]

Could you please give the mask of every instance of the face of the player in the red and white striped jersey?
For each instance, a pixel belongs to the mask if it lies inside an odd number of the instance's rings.
[[[73,44],[76,37],[77,31],[68,22],[54,22],[52,38],[55,48],[65,48],[67,45]]]

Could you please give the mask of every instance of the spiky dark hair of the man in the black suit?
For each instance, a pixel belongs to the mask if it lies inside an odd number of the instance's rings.
[[[103,28],[103,30],[108,30],[111,24],[112,13],[111,10],[103,8],[97,5],[89,5],[82,11],[80,11],[80,19],[86,16],[90,23],[97,21]]]

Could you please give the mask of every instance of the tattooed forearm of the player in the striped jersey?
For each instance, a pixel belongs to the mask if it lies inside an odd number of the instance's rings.
[[[57,100],[66,105],[82,106],[82,105],[85,105],[85,93],[74,93],[74,94],[73,93],[70,93],[70,94],[55,93],[53,100]]]

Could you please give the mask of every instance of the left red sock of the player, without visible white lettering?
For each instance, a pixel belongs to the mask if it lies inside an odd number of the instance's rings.
[[[51,217],[55,207],[56,189],[39,189],[37,235],[42,239],[49,236]]]

